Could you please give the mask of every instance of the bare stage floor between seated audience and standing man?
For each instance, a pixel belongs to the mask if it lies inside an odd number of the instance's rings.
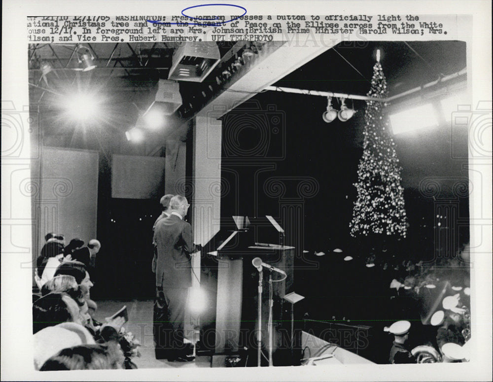
[[[96,302],[98,303],[96,319],[101,322],[105,322],[105,317],[117,312],[124,305],[127,306],[129,321],[124,325],[125,329],[127,332],[132,332],[135,338],[141,342],[141,347],[139,347],[141,356],[133,358],[139,369],[211,367],[211,356],[198,356],[191,362],[168,362],[155,358],[152,334],[152,300],[97,300]]]

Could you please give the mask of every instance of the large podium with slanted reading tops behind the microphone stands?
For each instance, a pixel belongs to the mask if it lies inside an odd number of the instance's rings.
[[[293,288],[295,248],[279,243],[282,242],[282,235],[271,219],[250,219],[246,228],[221,230],[208,243],[208,249],[216,249],[208,251],[202,261],[201,280],[211,302],[203,319],[208,324],[203,327],[202,342],[216,354],[257,347],[258,271],[251,261],[259,257],[262,262],[283,270],[287,275],[283,281],[272,283],[273,359],[276,365],[276,358],[284,356],[278,349],[289,351],[290,348],[289,332],[286,334],[282,330],[282,312],[283,304],[289,304],[283,297]],[[267,240],[278,243],[265,243]],[[261,344],[267,357],[269,275],[268,270],[264,269],[263,272]],[[273,274],[274,280],[278,278],[281,275]]]

